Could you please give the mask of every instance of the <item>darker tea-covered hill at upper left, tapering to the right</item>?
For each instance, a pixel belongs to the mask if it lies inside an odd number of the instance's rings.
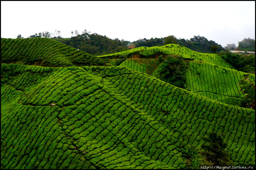
[[[108,62],[53,39],[1,38],[1,63],[67,67],[106,66]]]

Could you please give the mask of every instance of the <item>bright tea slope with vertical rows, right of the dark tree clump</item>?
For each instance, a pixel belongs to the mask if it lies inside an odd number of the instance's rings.
[[[245,96],[240,92],[238,83],[245,76],[255,82],[254,74],[246,74],[234,69],[209,63],[189,62],[186,73],[187,89],[222,103],[239,105]]]

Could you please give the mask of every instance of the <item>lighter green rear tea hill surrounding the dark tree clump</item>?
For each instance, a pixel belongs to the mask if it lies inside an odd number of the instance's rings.
[[[186,71],[186,88],[196,94],[206,96],[222,103],[238,106],[241,99],[245,96],[240,92],[238,83],[244,76],[249,76],[250,80],[255,83],[255,74],[248,74],[234,70],[233,67],[216,54],[204,54],[194,52],[186,47],[176,44],[169,44],[161,47],[141,47],[132,50],[99,56],[109,58],[110,63],[115,65],[118,56],[127,55],[126,61],[120,66],[147,73],[158,79],[159,65],[158,56],[162,55],[180,55],[188,63]],[[190,57],[192,55],[192,57]],[[111,59],[112,58],[112,59]]]

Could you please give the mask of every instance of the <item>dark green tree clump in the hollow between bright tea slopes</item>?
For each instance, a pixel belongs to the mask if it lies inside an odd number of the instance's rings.
[[[157,71],[161,80],[184,88],[186,87],[186,68],[187,65],[182,56],[167,56]]]

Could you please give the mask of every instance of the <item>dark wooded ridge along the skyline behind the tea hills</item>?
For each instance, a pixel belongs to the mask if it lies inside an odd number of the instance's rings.
[[[128,45],[131,44],[130,41],[124,41],[124,39],[110,39],[106,37],[106,35],[102,36],[97,33],[90,33],[84,30],[82,34],[79,34],[78,31],[75,31],[75,36],[73,36],[73,31],[71,32],[71,38],[62,38],[60,36],[60,31],[55,30],[54,33],[50,33],[48,31],[39,32],[38,34],[34,34],[29,36],[28,38],[35,37],[46,37],[56,39],[57,41],[64,43],[68,46],[72,46],[78,48],[86,53],[90,53],[93,55],[105,55],[111,53],[117,53],[121,51],[128,50]],[[17,38],[23,38],[19,34]],[[208,40],[205,37],[194,36],[190,40],[188,39],[177,39],[173,35],[164,37],[164,38],[151,38],[151,39],[139,39],[137,41],[133,41],[135,47],[140,46],[163,46],[166,44],[179,44],[185,46],[193,51],[200,53],[212,53],[212,52],[220,52],[225,49],[215,43],[212,40]],[[211,48],[215,47],[215,48]],[[212,50],[214,49],[214,50]],[[215,51],[216,50],[216,51]]]

